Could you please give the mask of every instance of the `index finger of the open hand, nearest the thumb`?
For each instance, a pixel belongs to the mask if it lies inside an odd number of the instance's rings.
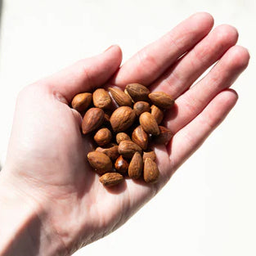
[[[111,83],[120,87],[135,82],[149,85],[163,74],[168,66],[204,38],[212,27],[212,16],[205,12],[196,13],[132,56]]]

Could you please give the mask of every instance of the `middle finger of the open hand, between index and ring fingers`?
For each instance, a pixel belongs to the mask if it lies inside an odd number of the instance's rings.
[[[219,25],[200,43],[170,67],[164,75],[150,87],[151,90],[163,91],[177,98],[204,73],[209,66],[236,44],[237,30],[230,25]]]

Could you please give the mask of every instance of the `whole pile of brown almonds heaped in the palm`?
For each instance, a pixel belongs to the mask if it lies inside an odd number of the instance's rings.
[[[151,141],[166,145],[173,137],[160,125],[164,110],[174,104],[172,97],[150,93],[140,83],[128,84],[125,91],[109,88],[109,92],[98,88],[93,93],[79,93],[71,103],[83,115],[83,134],[92,134],[97,143],[96,150],[88,153],[89,164],[104,186],[114,186],[125,176],[157,182],[155,152],[148,145]]]

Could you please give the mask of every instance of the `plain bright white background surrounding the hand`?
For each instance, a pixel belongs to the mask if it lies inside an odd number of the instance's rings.
[[[7,0],[0,42],[0,157],[28,83],[118,43],[124,61],[195,11],[236,26],[248,70],[234,110],[155,199],[79,255],[256,255],[255,0]],[[107,210],[107,209],[106,209]]]

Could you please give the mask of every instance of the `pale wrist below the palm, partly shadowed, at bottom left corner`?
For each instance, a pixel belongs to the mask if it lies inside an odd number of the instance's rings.
[[[68,255],[47,213],[7,170],[0,173],[0,256]]]

